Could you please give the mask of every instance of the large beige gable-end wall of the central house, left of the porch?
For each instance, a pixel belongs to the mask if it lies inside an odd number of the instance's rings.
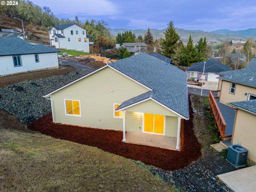
[[[148,91],[145,87],[106,67],[51,95],[55,122],[122,130],[123,119],[114,118],[113,103],[121,104]],[[81,117],[65,115],[64,99],[81,101]]]

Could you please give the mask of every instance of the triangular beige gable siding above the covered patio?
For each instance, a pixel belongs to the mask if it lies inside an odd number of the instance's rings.
[[[137,111],[140,113],[149,113],[149,114],[157,114],[157,115],[167,115],[167,116],[173,116],[178,117],[178,115],[174,114],[169,109],[166,109],[165,107],[159,105],[153,100],[147,100],[144,102],[141,102],[137,105],[134,105],[132,107],[124,109],[126,111]]]

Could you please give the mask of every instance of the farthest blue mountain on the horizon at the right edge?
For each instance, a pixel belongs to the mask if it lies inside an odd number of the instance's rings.
[[[249,28],[245,30],[229,30],[229,29],[218,29],[211,31],[211,33],[214,34],[220,34],[220,35],[241,35],[244,37],[253,37],[256,39],[256,28]]]

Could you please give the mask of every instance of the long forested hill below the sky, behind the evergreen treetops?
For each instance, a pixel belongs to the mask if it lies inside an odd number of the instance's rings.
[[[118,33],[123,33],[125,30],[130,29],[110,29],[110,33],[116,36]],[[161,38],[164,37],[164,31],[166,29],[150,29],[151,33],[153,34],[154,38]],[[132,33],[134,33],[136,36],[138,35],[145,35],[146,30],[145,29],[135,29],[131,30]],[[223,41],[230,41],[230,40],[246,40],[247,38],[242,35],[236,35],[236,34],[215,34],[211,32],[206,32],[202,30],[185,30],[181,28],[176,28],[177,33],[180,35],[183,42],[187,42],[189,35],[191,34],[193,37],[193,41],[196,42],[201,37],[206,37],[207,41],[209,43],[219,43]]]

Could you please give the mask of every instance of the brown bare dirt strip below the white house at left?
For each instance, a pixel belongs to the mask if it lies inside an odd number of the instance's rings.
[[[60,68],[58,69],[38,70],[38,71],[31,71],[27,73],[3,76],[3,77],[0,77],[0,88],[3,87],[4,85],[19,83],[19,82],[30,80],[30,79],[39,79],[39,78],[51,77],[54,75],[62,75],[74,70],[76,70],[74,67],[60,66]]]

